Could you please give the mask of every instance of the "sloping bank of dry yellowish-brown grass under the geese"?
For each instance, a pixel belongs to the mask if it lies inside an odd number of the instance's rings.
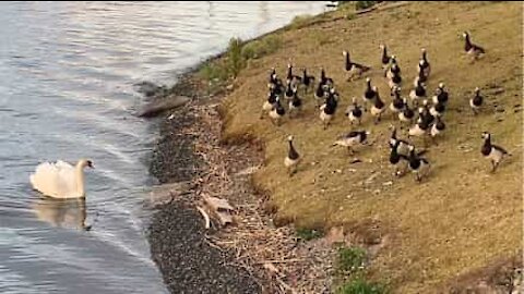
[[[486,57],[473,64],[464,58],[463,30],[471,32],[473,40],[487,50]],[[415,2],[364,15],[341,10],[297,21],[267,37],[274,38],[271,50],[242,59],[246,64],[234,72],[237,78],[223,105],[223,140],[259,138],[265,143],[265,164],[253,175],[253,183],[271,195],[281,223],[324,229],[343,225],[354,242],[379,248],[369,277],[386,280],[396,293],[438,292],[461,283],[457,277],[489,274],[483,269],[520,255],[521,3]],[[369,117],[364,120],[361,127],[371,131],[371,140],[377,143],[357,155],[362,162],[352,164],[345,150],[330,147],[335,137],[350,130],[343,112],[350,98],[361,97],[365,88],[364,79],[344,82],[343,50],[373,68],[369,76],[390,102],[379,70],[382,42],[397,56],[405,81],[403,95],[410,89],[422,47],[432,64],[428,89],[432,93],[444,82],[450,90],[446,134],[429,148],[432,173],[422,184],[415,184],[412,176],[391,175],[386,138],[393,120],[389,113],[378,125]],[[322,130],[312,96],[302,96],[302,115],[286,118],[281,127],[259,120],[269,70],[275,66],[285,78],[289,58],[297,73],[306,66],[318,76],[323,66],[335,79],[342,102],[329,130]],[[209,66],[227,68],[227,62],[231,60],[218,59]],[[223,78],[201,74],[217,83]],[[468,109],[475,87],[487,99],[477,117]],[[489,162],[479,152],[484,131],[513,154],[496,174],[489,174]],[[295,135],[303,156],[291,179],[283,167],[289,134]]]

